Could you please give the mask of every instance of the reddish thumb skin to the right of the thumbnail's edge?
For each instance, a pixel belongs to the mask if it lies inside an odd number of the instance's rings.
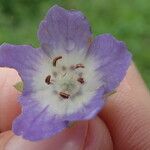
[[[83,150],[113,150],[110,132],[100,118],[89,122],[88,132]]]

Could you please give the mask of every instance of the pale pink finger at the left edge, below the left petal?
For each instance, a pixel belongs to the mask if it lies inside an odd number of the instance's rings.
[[[15,70],[0,68],[0,132],[11,129],[12,120],[19,114],[19,92],[13,87],[19,80]]]

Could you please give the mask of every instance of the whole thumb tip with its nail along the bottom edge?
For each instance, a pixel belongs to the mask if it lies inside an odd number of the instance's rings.
[[[14,135],[7,144],[3,143],[5,150],[112,150],[109,131],[99,118],[77,123],[48,140],[30,142]]]

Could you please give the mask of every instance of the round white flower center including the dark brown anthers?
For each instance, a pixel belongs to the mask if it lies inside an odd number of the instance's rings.
[[[102,86],[97,76],[97,62],[81,52],[57,51],[53,57],[43,56],[33,81],[37,91],[33,97],[50,106],[57,115],[71,114],[84,108]]]

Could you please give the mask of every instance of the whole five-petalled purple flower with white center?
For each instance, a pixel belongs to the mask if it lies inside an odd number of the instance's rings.
[[[36,141],[51,137],[71,122],[88,120],[124,78],[131,54],[110,34],[93,39],[80,11],[53,6],[41,22],[40,48],[2,44],[0,66],[18,71],[24,88],[16,135]]]

